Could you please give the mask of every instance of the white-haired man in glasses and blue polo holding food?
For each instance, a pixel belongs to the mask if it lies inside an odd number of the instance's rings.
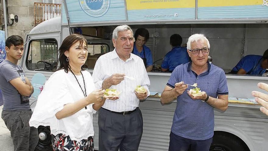
[[[192,62],[174,69],[161,95],[161,103],[177,98],[169,151],[208,151],[214,134],[213,109],[225,111],[228,106],[227,80],[221,68],[207,61],[210,44],[203,34],[190,36],[187,49]],[[189,93],[186,84],[194,83],[202,96]]]

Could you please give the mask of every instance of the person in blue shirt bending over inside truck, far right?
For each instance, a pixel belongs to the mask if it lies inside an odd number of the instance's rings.
[[[232,74],[262,75],[268,69],[268,49],[260,55],[247,55],[243,57],[232,69]]]

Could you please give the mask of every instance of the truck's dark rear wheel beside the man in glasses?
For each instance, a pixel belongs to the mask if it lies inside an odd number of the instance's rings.
[[[235,135],[225,133],[214,134],[210,151],[248,151],[244,142]]]

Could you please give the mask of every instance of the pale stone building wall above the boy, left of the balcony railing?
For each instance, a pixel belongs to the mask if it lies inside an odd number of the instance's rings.
[[[7,0],[8,14],[18,15],[18,23],[12,26],[8,25],[8,36],[17,34],[20,35],[24,40],[26,34],[31,31],[34,27],[34,13],[33,4],[34,2],[43,2],[42,0]],[[1,0],[2,10],[2,23],[4,23],[4,11],[3,11],[3,0]],[[9,20],[12,23],[12,20]],[[5,29],[3,29],[5,30]]]

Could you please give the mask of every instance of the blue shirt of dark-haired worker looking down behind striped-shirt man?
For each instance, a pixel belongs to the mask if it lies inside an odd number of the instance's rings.
[[[144,51],[145,51],[145,56],[144,56]],[[141,52],[138,52],[136,45],[134,43],[133,54],[141,58],[146,58],[147,67],[153,65],[153,57],[152,57],[151,50],[146,45],[143,45],[143,50]]]

